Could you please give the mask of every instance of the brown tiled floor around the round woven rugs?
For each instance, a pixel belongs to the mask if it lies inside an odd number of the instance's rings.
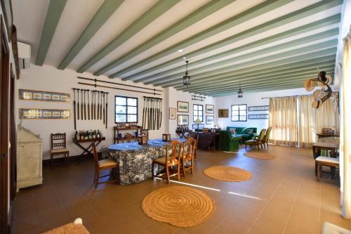
[[[40,233],[83,219],[91,233],[321,233],[324,221],[351,229],[340,216],[338,182],[314,178],[312,150],[270,146],[275,160],[255,160],[239,152],[199,151],[194,174],[182,177],[216,202],[208,221],[178,228],[150,219],[143,197],[168,186],[150,180],[134,186],[101,185],[93,189],[93,161],[44,169],[44,185],[24,189],[14,204],[14,233]],[[212,165],[251,171],[249,181],[230,183],[206,177]],[[178,185],[171,183],[170,186]],[[187,186],[187,185],[185,185]],[[216,190],[211,190],[211,188]]]

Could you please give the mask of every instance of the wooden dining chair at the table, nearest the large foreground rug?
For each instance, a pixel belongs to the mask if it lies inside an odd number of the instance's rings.
[[[171,151],[171,153],[170,153]],[[171,176],[178,176],[180,181],[180,160],[183,157],[184,144],[177,140],[172,141],[166,146],[166,157],[159,157],[157,160],[152,161],[152,178],[154,178],[154,164],[162,166],[166,169],[166,178],[162,177],[165,174],[157,174],[156,177],[166,179],[168,183],[171,183]],[[171,167],[176,166],[174,170]],[[170,175],[170,172],[173,174]]]

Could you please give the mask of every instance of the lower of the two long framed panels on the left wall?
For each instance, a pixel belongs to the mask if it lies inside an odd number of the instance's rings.
[[[20,119],[69,119],[69,110],[20,108]]]

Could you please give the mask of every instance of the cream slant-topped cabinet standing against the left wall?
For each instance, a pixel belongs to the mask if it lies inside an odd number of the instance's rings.
[[[43,140],[32,131],[18,126],[17,133],[17,190],[43,183]]]

